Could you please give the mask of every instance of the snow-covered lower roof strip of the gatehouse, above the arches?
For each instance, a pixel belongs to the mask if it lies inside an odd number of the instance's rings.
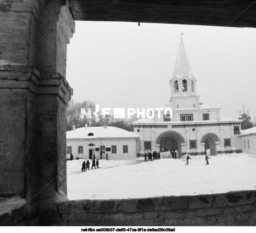
[[[233,118],[224,118],[224,117],[221,117],[220,120],[209,120],[209,121],[205,121],[205,120],[202,120],[202,121],[170,121],[170,122],[164,122],[164,121],[157,121],[157,122],[154,122],[153,119],[148,119],[148,118],[145,118],[145,119],[138,119],[137,121],[133,122],[133,124],[194,124],[194,123],[220,123],[220,122],[242,122],[242,120],[238,120],[238,119],[233,119]]]

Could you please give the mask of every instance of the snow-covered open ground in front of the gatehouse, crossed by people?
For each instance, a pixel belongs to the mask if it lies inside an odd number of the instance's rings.
[[[218,154],[207,166],[204,155],[190,157],[189,166],[185,158],[99,160],[101,168],[87,172],[81,171],[84,160],[67,161],[67,195],[70,200],[122,199],[256,189],[255,155]]]

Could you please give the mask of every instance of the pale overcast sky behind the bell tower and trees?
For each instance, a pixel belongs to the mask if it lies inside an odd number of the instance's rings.
[[[72,99],[100,109],[169,104],[181,32],[200,101],[235,119],[244,104],[253,119],[255,28],[76,21],[67,46]]]

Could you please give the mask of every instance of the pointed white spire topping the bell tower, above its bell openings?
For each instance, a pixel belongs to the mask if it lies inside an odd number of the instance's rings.
[[[176,59],[176,64],[173,72],[173,78],[177,77],[180,79],[184,75],[187,76],[189,79],[193,77],[192,70],[189,65],[189,59],[186,54],[186,50],[184,48],[183,40],[182,40],[182,34],[180,36],[180,47]],[[184,34],[183,34],[184,35]]]

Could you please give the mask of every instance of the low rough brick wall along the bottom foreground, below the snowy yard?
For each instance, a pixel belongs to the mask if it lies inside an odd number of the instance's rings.
[[[69,226],[253,226],[255,203],[254,190],[199,196],[73,200],[57,202],[57,206],[62,225]]]

